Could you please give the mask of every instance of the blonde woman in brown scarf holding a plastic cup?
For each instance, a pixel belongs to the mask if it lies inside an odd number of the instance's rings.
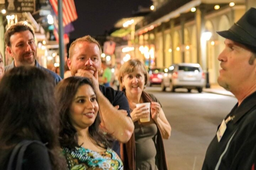
[[[133,142],[124,147],[133,155],[136,170],[167,169],[163,138],[171,135],[171,126],[167,121],[160,102],[144,90],[149,75],[138,59],[129,60],[119,71],[120,88],[125,93],[134,122],[135,156],[132,153]],[[148,104],[150,102],[150,104]],[[136,106],[137,105],[137,106]],[[146,120],[148,118],[148,120]],[[130,159],[132,157],[129,157]]]

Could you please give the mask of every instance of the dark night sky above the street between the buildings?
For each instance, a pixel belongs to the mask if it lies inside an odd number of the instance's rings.
[[[73,22],[70,39],[84,35],[103,35],[119,19],[129,17],[138,6],[150,7],[151,0],[75,0],[78,19]]]

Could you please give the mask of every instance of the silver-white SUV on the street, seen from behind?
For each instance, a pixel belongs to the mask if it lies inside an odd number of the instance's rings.
[[[177,88],[186,88],[188,92],[197,89],[201,93],[205,85],[205,74],[199,64],[179,63],[165,69],[161,89],[165,91],[166,87],[170,87],[171,92]]]

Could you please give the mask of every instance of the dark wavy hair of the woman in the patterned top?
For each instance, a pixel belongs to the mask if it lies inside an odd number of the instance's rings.
[[[90,80],[82,77],[66,78],[56,86],[55,98],[59,103],[60,109],[59,142],[61,147],[67,147],[69,149],[80,147],[77,131],[70,121],[70,107],[79,87],[85,84],[90,85],[94,90]],[[100,115],[97,113],[94,123],[89,127],[89,136],[96,145],[103,148],[111,147],[112,138],[104,134],[100,129],[100,123]]]

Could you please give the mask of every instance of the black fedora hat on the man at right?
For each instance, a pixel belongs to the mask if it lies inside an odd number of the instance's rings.
[[[256,8],[250,8],[229,30],[217,33],[256,52]]]

